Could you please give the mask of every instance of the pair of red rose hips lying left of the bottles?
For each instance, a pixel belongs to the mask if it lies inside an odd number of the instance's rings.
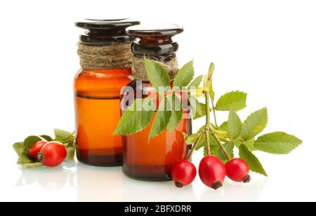
[[[29,149],[29,158],[41,162],[44,166],[59,166],[67,157],[67,149],[61,142],[39,141]]]

